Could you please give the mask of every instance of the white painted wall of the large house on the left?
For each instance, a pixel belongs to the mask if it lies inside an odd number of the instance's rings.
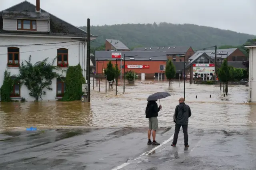
[[[80,61],[82,66],[82,57],[83,57],[83,48],[84,46],[80,43],[80,56],[79,56],[79,42],[70,42],[75,41],[72,39],[66,38],[30,38],[30,37],[10,37],[10,36],[0,36],[0,45],[10,45],[8,47],[19,47],[20,48],[20,63],[24,60],[28,60],[28,57],[31,55],[32,63],[37,61],[42,61],[43,59],[48,58],[48,62],[52,63],[53,59],[57,56],[58,48],[68,49],[68,63],[70,66],[77,65]],[[46,44],[46,45],[35,45],[35,46],[17,46],[24,44],[42,44],[42,43],[57,43],[58,44]],[[69,43],[61,43],[69,42]],[[16,46],[15,46],[16,45]],[[86,47],[86,45],[85,45]],[[11,75],[19,74],[18,67],[7,67],[7,47],[0,47],[0,87],[2,86],[4,80],[4,71],[7,70]],[[85,49],[85,58],[86,58],[86,49]],[[55,61],[57,65],[57,60]],[[85,60],[86,66],[86,60]],[[86,69],[86,67],[84,67]],[[66,68],[62,68],[65,69]],[[62,73],[63,77],[66,77],[66,72],[62,70],[57,70],[58,73]],[[84,71],[86,75],[86,71]],[[43,100],[56,100],[56,79],[52,81],[52,91],[45,89],[46,95],[42,97]],[[34,101],[34,98],[28,95],[29,91],[25,85],[22,85],[20,89],[20,96],[24,97],[27,101]]]

